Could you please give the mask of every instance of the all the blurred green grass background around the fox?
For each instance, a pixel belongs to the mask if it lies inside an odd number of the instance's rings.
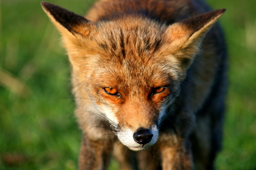
[[[92,0],[49,0],[85,14]],[[208,1],[221,17],[230,56],[218,169],[256,169],[256,1]],[[0,169],[77,169],[81,132],[70,66],[39,0],[0,0]],[[112,163],[109,169],[116,169]]]

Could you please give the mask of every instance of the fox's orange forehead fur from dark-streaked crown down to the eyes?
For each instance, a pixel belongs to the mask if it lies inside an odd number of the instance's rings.
[[[171,54],[164,54],[165,26],[147,19],[131,19],[99,22],[89,38],[85,38],[85,43],[80,44],[85,47],[80,48],[86,49],[81,50],[81,56],[93,58],[88,60],[91,63],[86,63],[91,65],[87,69],[94,69],[90,72],[93,73],[92,79],[98,78],[101,82],[133,79],[129,84],[151,81],[151,85],[156,86],[168,84],[179,61]]]

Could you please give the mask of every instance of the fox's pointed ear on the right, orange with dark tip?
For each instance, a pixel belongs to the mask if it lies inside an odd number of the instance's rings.
[[[166,29],[165,37],[170,42],[170,49],[185,68],[193,61],[204,35],[225,11],[226,9],[218,9],[206,12],[174,23]]]

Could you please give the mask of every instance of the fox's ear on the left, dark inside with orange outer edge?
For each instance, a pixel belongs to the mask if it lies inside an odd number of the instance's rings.
[[[41,2],[41,5],[62,34],[62,42],[67,50],[68,58],[73,69],[77,70],[81,64],[81,56],[76,50],[80,46],[77,44],[81,42],[81,39],[85,40],[85,37],[90,35],[95,29],[95,23],[54,4]]]

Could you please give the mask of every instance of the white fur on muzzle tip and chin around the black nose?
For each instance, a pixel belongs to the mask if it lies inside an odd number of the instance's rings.
[[[121,130],[120,132],[117,132],[117,137],[119,138],[119,141],[127,146],[132,151],[141,151],[145,150],[147,147],[154,145],[158,138],[158,129],[156,125],[152,126],[150,129],[153,133],[152,140],[147,143],[146,145],[139,144],[134,141],[134,133],[130,129]],[[143,146],[143,147],[142,147]]]

